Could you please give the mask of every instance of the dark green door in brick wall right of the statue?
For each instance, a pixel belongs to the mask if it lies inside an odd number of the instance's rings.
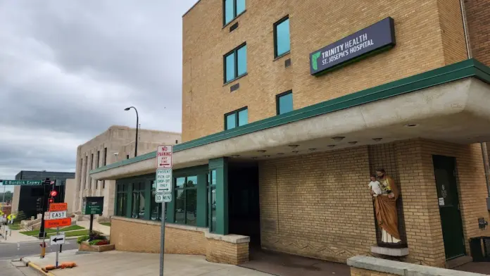
[[[439,213],[446,260],[464,256],[465,239],[456,184],[456,160],[447,156],[432,156],[436,177]]]

